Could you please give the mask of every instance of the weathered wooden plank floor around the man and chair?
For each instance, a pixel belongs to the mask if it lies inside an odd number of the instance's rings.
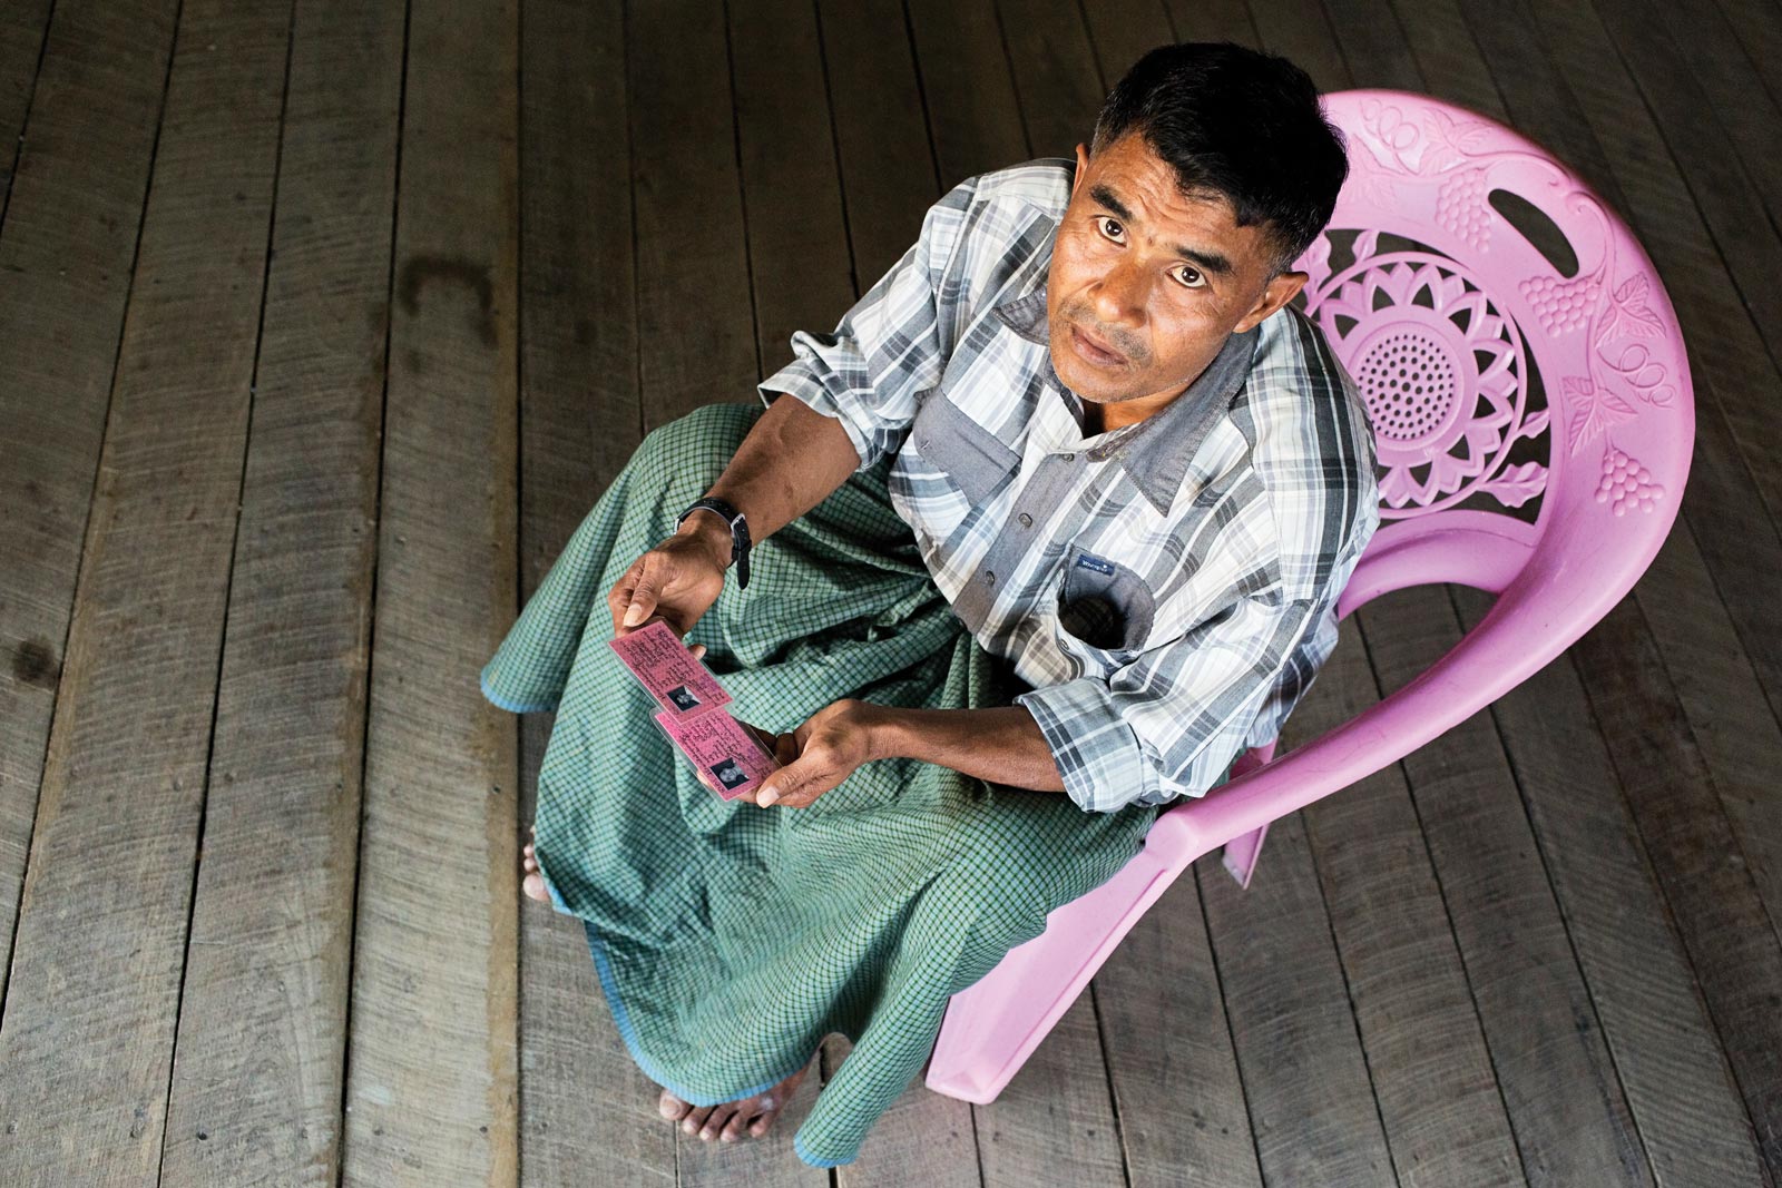
[[[649,429],[752,401],[1153,45],[1520,128],[1691,347],[1682,515],[1488,712],[1198,864],[989,1106],[679,1135],[519,894],[483,659]],[[0,5],[0,1184],[1782,1184],[1771,0]],[[1390,595],[1287,743],[1483,618]]]

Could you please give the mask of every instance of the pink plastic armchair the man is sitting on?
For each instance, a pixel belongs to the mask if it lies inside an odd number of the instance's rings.
[[[1367,397],[1381,484],[1381,527],[1338,616],[1422,582],[1497,600],[1392,696],[1279,759],[1274,743],[1251,748],[1226,784],[1160,812],[1119,875],[953,996],[928,1062],[936,1092],[994,1101],[1190,862],[1224,846],[1247,887],[1269,821],[1543,668],[1632,588],[1677,517],[1695,436],[1689,367],[1627,226],[1475,112],[1399,91],[1329,94],[1326,110],[1349,141],[1349,180],[1297,267],[1312,276],[1306,312]],[[1545,233],[1516,199],[1550,219]]]

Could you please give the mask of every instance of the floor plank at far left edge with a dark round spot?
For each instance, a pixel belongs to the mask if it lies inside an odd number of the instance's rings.
[[[175,12],[61,5],[0,224],[0,1006]]]

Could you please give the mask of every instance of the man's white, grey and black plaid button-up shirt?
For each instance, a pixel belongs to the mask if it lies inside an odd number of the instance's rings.
[[[834,417],[1085,810],[1201,796],[1336,647],[1379,525],[1365,406],[1287,306],[1146,420],[1083,436],[1046,267],[1075,162],[968,178],[843,315],[761,381]]]

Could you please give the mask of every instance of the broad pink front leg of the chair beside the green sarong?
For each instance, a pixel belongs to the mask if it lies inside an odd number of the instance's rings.
[[[928,1058],[937,1094],[989,1104],[1064,1017],[1174,873],[1142,850],[1119,875],[1046,917],[991,972],[952,997]]]

